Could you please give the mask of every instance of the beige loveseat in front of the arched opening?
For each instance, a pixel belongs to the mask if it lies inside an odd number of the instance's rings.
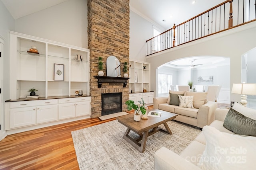
[[[193,96],[192,108],[180,107],[179,96]],[[214,121],[217,103],[206,100],[207,92],[169,91],[169,97],[153,98],[154,109],[178,114],[175,120],[202,128]]]

